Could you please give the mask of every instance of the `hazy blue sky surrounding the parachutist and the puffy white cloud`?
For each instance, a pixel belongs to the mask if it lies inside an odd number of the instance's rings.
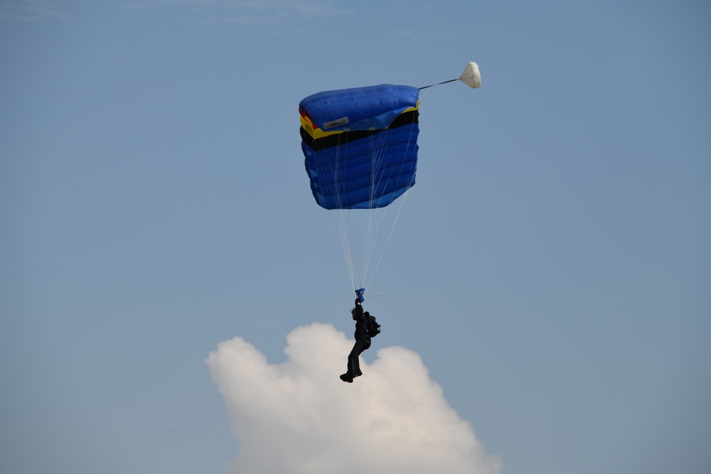
[[[390,387],[377,351],[405,348],[503,473],[706,473],[710,16],[702,1],[2,2],[0,473],[244,463],[251,408],[210,353],[242,338],[288,368],[297,328],[352,330],[299,101],[469,61],[481,89],[420,96],[417,185],[368,289],[373,377],[349,388]]]

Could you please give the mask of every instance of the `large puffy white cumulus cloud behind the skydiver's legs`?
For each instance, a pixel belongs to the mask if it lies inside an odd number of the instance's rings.
[[[353,345],[344,333],[314,323],[293,330],[287,343],[288,360],[277,365],[242,338],[210,352],[207,363],[240,444],[231,473],[501,470],[415,352],[378,350],[373,364],[361,362],[363,377],[347,384],[338,378]]]

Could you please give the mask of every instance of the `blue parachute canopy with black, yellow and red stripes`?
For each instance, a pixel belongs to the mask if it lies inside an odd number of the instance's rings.
[[[375,85],[302,100],[301,150],[326,209],[383,208],[415,184],[419,90]]]

